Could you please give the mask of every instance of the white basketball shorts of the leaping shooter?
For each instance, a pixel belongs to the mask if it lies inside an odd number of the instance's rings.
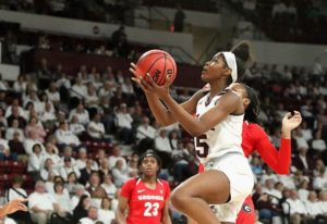
[[[254,185],[254,176],[247,159],[241,153],[231,152],[209,160],[204,164],[204,170],[217,170],[228,177],[230,182],[230,201],[210,208],[220,222],[234,223],[245,198],[251,194]]]

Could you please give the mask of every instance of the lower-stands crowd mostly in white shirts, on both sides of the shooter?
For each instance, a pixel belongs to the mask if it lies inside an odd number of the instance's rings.
[[[178,125],[159,127],[128,75],[110,66],[97,71],[81,65],[71,77],[60,65],[50,67],[46,59],[41,61],[36,76],[22,74],[14,83],[0,82],[0,161],[26,164],[36,183],[35,189],[24,189],[23,177],[12,175],[5,197],[28,197],[34,222],[111,219],[114,223],[117,194],[137,175],[137,154],[149,148],[160,154],[161,177],[172,187],[196,173],[192,139]],[[290,175],[274,174],[255,154],[250,159],[256,175],[254,201],[263,222],[278,223],[283,215],[299,224],[326,222],[325,74],[316,60],[310,70],[254,64],[245,77],[261,90],[261,122],[277,148],[283,114],[300,110],[303,116],[292,136]],[[191,92],[172,88],[179,102]],[[122,157],[125,146],[133,153]],[[47,200],[47,209],[40,209]],[[13,217],[24,223],[21,215]]]

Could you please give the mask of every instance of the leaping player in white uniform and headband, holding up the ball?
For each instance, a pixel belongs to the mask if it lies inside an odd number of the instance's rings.
[[[235,223],[253,188],[253,174],[241,148],[242,96],[231,89],[225,90],[244,74],[244,62],[249,59],[246,42],[232,52],[217,53],[202,72],[202,79],[210,84],[209,92],[204,95],[201,90],[182,104],[169,95],[169,77],[164,86],[157,86],[150,77],[149,82],[137,76],[133,78],[145,91],[157,122],[162,125],[179,122],[195,136],[196,153],[205,171],[182,183],[172,192],[171,202],[198,224]],[[131,72],[136,75],[134,64]],[[208,204],[221,204],[216,207],[218,217]]]

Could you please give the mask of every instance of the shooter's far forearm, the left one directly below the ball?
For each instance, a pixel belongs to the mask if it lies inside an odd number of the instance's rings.
[[[173,115],[165,108],[157,96],[150,94],[146,94],[145,96],[148,105],[159,124],[168,126],[177,122]]]

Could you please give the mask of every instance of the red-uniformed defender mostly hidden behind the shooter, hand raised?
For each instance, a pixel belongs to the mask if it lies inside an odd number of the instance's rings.
[[[235,83],[232,84],[230,88],[240,92],[243,89],[240,85],[242,84]],[[277,174],[289,174],[291,164],[291,130],[301,124],[301,114],[298,111],[294,111],[293,115],[291,113],[287,113],[283,116],[280,148],[277,150],[270,142],[266,132],[257,124],[259,102],[255,90],[246,85],[244,86],[247,91],[242,95],[246,96],[243,99],[246,108],[242,132],[242,148],[244,155],[250,157],[252,152],[257,151],[265,163],[267,163]],[[209,87],[205,87],[204,89],[208,88]],[[198,172],[203,172],[202,164],[199,164]],[[243,203],[242,210],[239,212],[237,224],[252,224],[255,223],[255,220],[254,204],[252,197],[249,196]],[[195,224],[195,222],[189,220],[189,224]]]

